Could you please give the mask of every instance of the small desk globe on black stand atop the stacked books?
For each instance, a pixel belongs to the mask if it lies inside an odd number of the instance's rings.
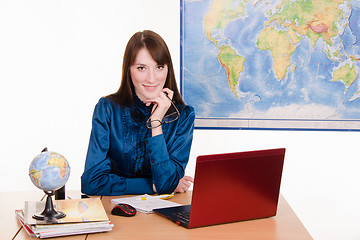
[[[65,214],[56,211],[53,206],[54,192],[62,188],[70,176],[68,161],[59,153],[48,151],[47,148],[37,155],[31,162],[29,176],[33,184],[47,194],[45,209],[33,218],[51,221],[65,217]]]

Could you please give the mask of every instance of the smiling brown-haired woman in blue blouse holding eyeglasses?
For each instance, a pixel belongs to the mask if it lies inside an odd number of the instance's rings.
[[[153,31],[135,33],[125,49],[119,90],[95,107],[82,192],[187,191],[194,119],[177,89],[165,41]]]

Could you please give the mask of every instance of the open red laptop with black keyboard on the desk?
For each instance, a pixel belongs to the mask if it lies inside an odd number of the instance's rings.
[[[154,209],[187,227],[276,215],[285,148],[198,156],[191,205]]]

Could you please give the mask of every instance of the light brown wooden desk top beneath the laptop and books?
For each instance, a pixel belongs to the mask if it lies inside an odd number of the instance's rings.
[[[183,194],[176,194],[172,201],[188,204],[191,202],[191,191]],[[12,204],[11,198],[14,193],[7,193],[2,198],[2,203],[6,202],[4,199],[7,199],[11,207],[7,214],[10,216],[6,217],[10,221],[2,221],[2,229],[9,229],[9,234],[6,235],[7,238],[3,238],[3,235],[0,236],[1,239],[13,239],[22,240],[30,239],[25,230],[21,228],[21,225],[17,223],[14,210],[16,208],[22,208],[23,202],[29,200],[26,198],[28,195],[21,197],[21,200],[17,200],[17,204]],[[15,194],[16,195],[16,194]],[[17,196],[19,196],[18,194]],[[186,229],[177,224],[171,222],[168,219],[165,219],[156,214],[144,214],[138,213],[135,217],[125,218],[120,216],[113,216],[110,214],[113,204],[111,203],[112,198],[119,197],[102,197],[102,202],[104,204],[105,210],[114,223],[114,228],[110,232],[106,233],[95,233],[88,235],[78,235],[78,236],[69,236],[64,237],[67,240],[107,240],[107,239],[172,239],[172,240],[187,240],[187,239],[292,239],[292,240],[305,240],[312,239],[310,234],[306,231],[305,227],[302,225],[300,220],[297,218],[289,204],[281,196],[279,201],[278,213],[276,217],[221,224],[216,226],[195,228],[195,229]],[[31,199],[30,199],[31,200]],[[16,205],[16,206],[15,206]],[[1,205],[3,206],[3,205]],[[3,214],[4,210],[0,209],[0,213]],[[5,215],[5,216],[7,216]],[[4,215],[2,215],[4,216]],[[5,227],[5,226],[9,227]],[[4,231],[1,231],[4,232]],[[63,239],[63,238],[61,238]]]

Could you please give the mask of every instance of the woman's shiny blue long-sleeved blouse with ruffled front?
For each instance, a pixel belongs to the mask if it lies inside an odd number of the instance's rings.
[[[152,106],[135,98],[120,106],[101,98],[95,106],[92,131],[81,176],[81,190],[89,195],[172,193],[184,176],[193,139],[195,112],[178,106],[178,120],[162,125],[152,137],[146,127]]]

